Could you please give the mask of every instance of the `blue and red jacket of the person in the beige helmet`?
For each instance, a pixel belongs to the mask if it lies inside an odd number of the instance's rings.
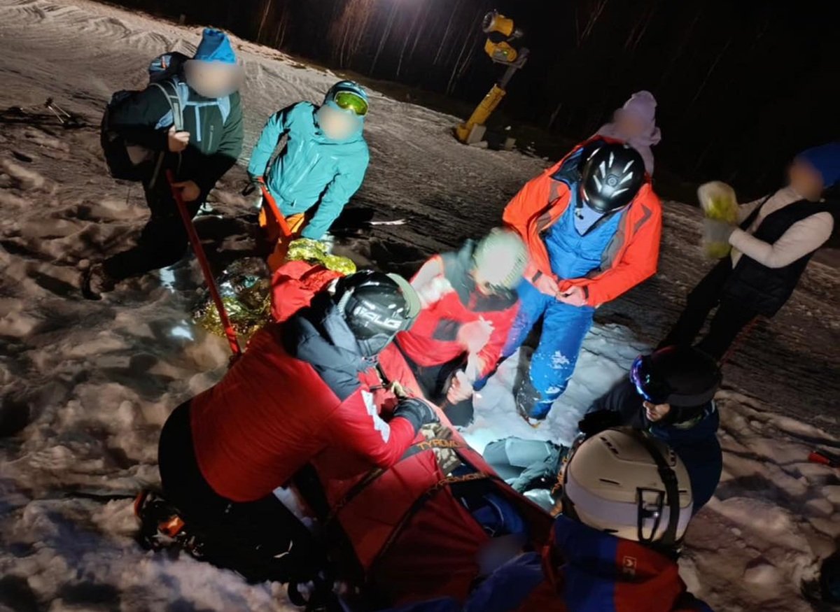
[[[686,598],[693,598],[686,593],[676,562],[638,542],[621,540],[561,515],[554,522],[554,545],[565,561],[560,571],[570,610],[691,609],[683,607]]]

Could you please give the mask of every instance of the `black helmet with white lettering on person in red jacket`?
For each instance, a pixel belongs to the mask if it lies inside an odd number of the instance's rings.
[[[366,357],[411,327],[420,312],[420,299],[407,280],[373,270],[339,279],[333,301]]]

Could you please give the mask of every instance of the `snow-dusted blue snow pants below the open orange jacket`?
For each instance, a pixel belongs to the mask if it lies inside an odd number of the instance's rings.
[[[543,419],[569,384],[583,338],[592,327],[595,308],[564,304],[541,293],[528,281],[523,281],[517,291],[521,301],[519,314],[502,357],[507,358],[516,351],[540,317],[543,318],[543,332],[531,358],[530,380],[535,397],[529,402],[533,406],[527,407],[529,416]]]

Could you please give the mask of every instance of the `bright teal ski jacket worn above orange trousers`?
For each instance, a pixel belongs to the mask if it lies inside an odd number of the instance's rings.
[[[302,237],[327,233],[365,178],[370,153],[359,130],[344,140],[329,139],[318,125],[318,107],[297,102],[273,114],[251,153],[249,175],[265,176],[277,206],[286,216],[317,207]],[[283,136],[286,148],[269,165]]]

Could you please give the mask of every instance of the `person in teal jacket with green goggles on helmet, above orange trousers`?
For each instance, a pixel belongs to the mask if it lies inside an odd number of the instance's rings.
[[[339,81],[320,107],[297,102],[265,123],[248,173],[252,180],[265,179],[284,216],[309,212],[302,238],[323,238],[361,186],[370,160],[362,135],[367,111],[365,90]],[[286,148],[270,163],[283,136]]]

